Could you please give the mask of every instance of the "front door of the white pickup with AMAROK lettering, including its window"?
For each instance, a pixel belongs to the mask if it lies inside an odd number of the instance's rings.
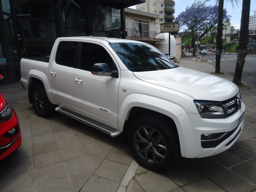
[[[120,69],[109,50],[101,44],[82,42],[79,67],[75,70],[76,110],[104,124],[117,127]],[[119,73],[118,78],[95,76],[92,65],[106,63]]]

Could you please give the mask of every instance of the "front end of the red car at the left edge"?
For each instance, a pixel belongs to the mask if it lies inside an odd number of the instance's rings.
[[[0,74],[0,79],[3,76]],[[21,146],[18,117],[10,103],[0,93],[0,160]]]

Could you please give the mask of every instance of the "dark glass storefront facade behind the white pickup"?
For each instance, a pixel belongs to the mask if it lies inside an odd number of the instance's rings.
[[[118,5],[120,0],[92,2],[0,0],[0,73],[4,76],[0,86],[20,80],[22,57],[50,56],[52,45],[58,37],[125,38],[123,10],[134,5],[135,1],[125,7]],[[141,0],[135,3],[141,3]]]

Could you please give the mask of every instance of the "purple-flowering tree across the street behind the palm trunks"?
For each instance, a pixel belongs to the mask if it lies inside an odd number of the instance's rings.
[[[230,16],[227,15],[227,11],[224,9],[223,19],[229,22],[229,18]],[[179,22],[180,30],[191,32],[191,42],[192,47],[194,47],[195,41],[200,41],[204,35],[217,25],[218,7],[216,5],[206,6],[204,1],[195,0],[190,7],[187,6],[186,10],[176,17],[175,22]]]

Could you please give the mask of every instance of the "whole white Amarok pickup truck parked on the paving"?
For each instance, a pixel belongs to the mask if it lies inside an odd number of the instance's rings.
[[[63,37],[42,59],[20,62],[36,114],[54,107],[112,137],[122,133],[148,169],[218,154],[242,132],[245,105],[235,84],[179,67],[152,45]]]

